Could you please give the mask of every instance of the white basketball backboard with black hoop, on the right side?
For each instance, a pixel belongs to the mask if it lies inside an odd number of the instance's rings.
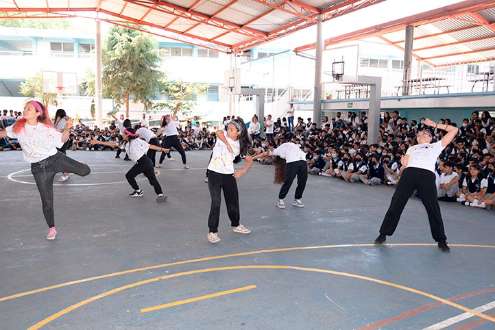
[[[322,55],[322,83],[357,82],[359,45],[324,49]]]

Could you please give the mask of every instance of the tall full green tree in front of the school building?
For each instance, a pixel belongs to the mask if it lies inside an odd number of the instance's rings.
[[[109,31],[101,55],[104,95],[114,99],[115,107],[125,105],[129,116],[129,101],[143,103],[145,111],[152,109],[152,99],[165,76],[159,71],[161,58],[156,40],[130,27],[115,25]]]

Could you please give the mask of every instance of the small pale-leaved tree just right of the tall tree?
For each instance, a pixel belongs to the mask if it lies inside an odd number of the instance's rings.
[[[182,80],[162,82],[160,85],[160,93],[169,95],[169,98],[173,101],[167,103],[156,103],[153,106],[153,110],[173,110],[176,103],[180,101],[181,105],[178,111],[182,114],[182,116],[189,117],[195,105],[195,101],[193,99],[194,95],[203,94],[206,92],[207,87],[208,86],[192,82],[184,83]]]

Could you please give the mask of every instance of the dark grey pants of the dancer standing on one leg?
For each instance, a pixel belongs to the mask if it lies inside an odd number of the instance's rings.
[[[63,153],[56,153],[38,163],[31,164],[31,173],[41,196],[43,215],[48,227],[55,227],[53,212],[53,177],[58,172],[74,173],[86,177],[91,170],[88,165],[77,162]]]

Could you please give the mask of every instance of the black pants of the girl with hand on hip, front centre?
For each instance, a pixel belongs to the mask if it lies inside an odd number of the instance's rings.
[[[210,216],[208,216],[208,227],[210,233],[218,232],[220,218],[221,190],[224,190],[227,213],[232,227],[239,226],[239,192],[237,181],[232,174],[220,174],[210,170],[208,173],[208,189],[211,195]]]

